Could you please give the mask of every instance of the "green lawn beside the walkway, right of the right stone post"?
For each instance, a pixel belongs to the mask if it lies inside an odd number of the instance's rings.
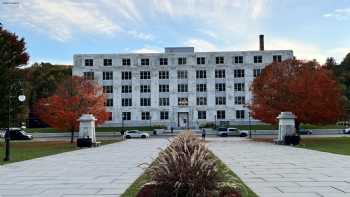
[[[350,155],[350,137],[302,138],[298,147]]]

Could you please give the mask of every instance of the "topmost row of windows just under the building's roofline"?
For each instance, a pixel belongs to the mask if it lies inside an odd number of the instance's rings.
[[[274,62],[281,62],[282,56],[281,55],[273,55],[272,59]],[[261,55],[253,56],[253,61],[254,61],[254,63],[262,63],[263,56],[261,56]],[[198,65],[206,64],[206,62],[207,62],[206,57],[197,57],[197,64]],[[85,66],[94,66],[93,59],[85,59],[84,63],[85,63],[84,64]],[[131,59],[130,58],[123,58],[121,63],[123,66],[130,66]],[[141,58],[140,63],[142,66],[148,66],[148,65],[150,65],[150,59],[149,58]],[[223,56],[215,57],[215,64],[224,64],[224,63],[225,63],[225,57],[223,57]],[[243,56],[234,56],[232,59],[232,63],[243,64],[244,57]],[[178,57],[177,64],[178,65],[186,65],[187,58],[186,57]],[[104,66],[112,66],[112,59],[103,59],[103,65]],[[159,65],[168,65],[168,58],[159,58]]]

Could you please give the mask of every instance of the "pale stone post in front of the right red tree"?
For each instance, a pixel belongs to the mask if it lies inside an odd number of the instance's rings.
[[[295,136],[295,118],[292,112],[281,112],[278,119],[278,144],[285,144],[285,136]]]

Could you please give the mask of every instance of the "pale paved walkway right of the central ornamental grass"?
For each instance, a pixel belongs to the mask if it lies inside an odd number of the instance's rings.
[[[350,156],[211,138],[209,148],[261,197],[350,197]]]

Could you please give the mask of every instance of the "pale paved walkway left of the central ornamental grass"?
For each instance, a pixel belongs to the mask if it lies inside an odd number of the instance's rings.
[[[119,196],[167,143],[127,140],[0,166],[0,197]]]

